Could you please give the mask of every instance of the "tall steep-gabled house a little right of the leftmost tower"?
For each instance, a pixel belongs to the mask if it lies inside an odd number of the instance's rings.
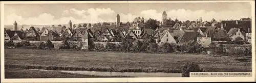
[[[26,34],[26,40],[39,40],[39,34],[35,30],[35,27],[31,26]]]

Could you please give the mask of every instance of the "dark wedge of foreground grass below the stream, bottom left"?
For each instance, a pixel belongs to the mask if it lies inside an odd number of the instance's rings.
[[[5,78],[84,78],[84,77],[129,77],[129,76],[97,76],[65,73],[60,71],[40,71],[17,68],[6,68]]]

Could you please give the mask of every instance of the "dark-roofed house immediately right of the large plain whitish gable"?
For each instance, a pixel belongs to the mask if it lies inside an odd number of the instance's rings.
[[[190,41],[197,41],[197,37],[201,37],[198,32],[185,32],[178,38],[178,44],[188,44]]]

